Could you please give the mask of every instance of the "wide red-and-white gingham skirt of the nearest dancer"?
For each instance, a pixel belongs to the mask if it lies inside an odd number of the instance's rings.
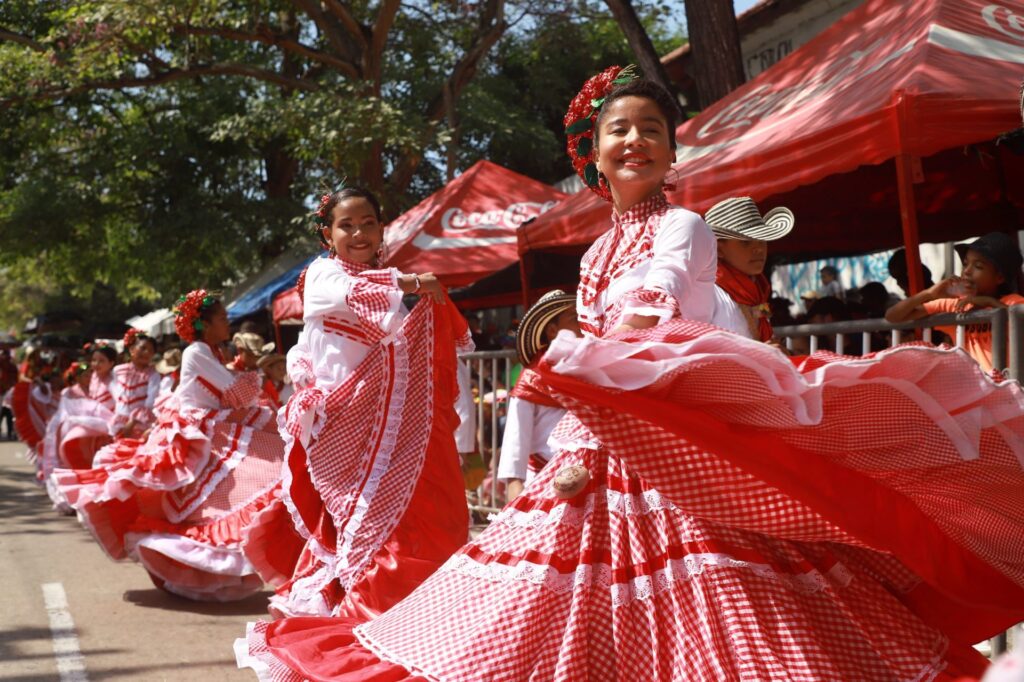
[[[583,317],[607,334],[665,294]],[[964,353],[797,367],[676,317],[563,336],[539,371],[572,415],[522,496],[375,621],[260,625],[240,663],[275,681],[954,679],[1024,617],[1024,398]],[[570,464],[590,482],[560,500]]]

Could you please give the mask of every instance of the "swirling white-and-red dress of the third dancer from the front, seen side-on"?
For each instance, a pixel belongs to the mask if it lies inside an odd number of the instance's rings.
[[[57,469],[52,479],[111,558],[140,562],[183,597],[242,599],[263,585],[242,530],[273,500],[283,460],[259,392],[256,373],[232,374],[193,343],[144,441],[119,438],[91,470]]]

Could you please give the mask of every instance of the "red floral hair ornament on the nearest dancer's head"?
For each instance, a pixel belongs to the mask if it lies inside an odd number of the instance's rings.
[[[565,112],[565,118],[562,119],[565,125],[565,147],[572,160],[573,170],[588,187],[606,202],[611,201],[611,190],[597,172],[597,164],[593,158],[597,115],[612,90],[639,76],[636,65],[608,67],[584,83],[583,89],[572,98],[569,111]]]

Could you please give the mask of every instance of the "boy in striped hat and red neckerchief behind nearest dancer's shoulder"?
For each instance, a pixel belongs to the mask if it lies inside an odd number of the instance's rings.
[[[705,221],[718,239],[715,314],[712,322],[751,339],[770,341],[771,283],[764,274],[768,242],[793,229],[793,212],[774,208],[763,217],[750,197],[715,204]]]

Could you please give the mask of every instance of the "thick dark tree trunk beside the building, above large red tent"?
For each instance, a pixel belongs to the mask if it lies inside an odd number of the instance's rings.
[[[686,0],[686,24],[700,106],[707,109],[746,80],[732,0]]]

